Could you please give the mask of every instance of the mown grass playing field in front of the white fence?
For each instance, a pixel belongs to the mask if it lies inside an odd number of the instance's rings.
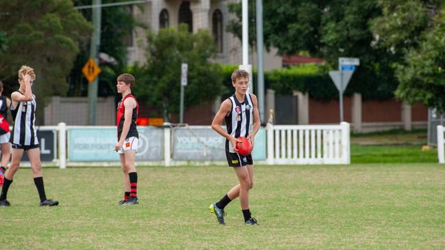
[[[116,202],[120,169],[44,169],[38,207],[21,169],[0,209],[1,249],[444,249],[445,167],[438,164],[255,167],[251,210],[227,225],[207,210],[236,184],[229,167],[139,167],[138,206]]]

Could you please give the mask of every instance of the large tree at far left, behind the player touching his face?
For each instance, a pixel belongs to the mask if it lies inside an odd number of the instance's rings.
[[[21,65],[34,68],[37,80],[33,92],[42,109],[48,96],[64,96],[66,76],[79,52],[79,43],[91,26],[68,0],[0,1],[0,30],[7,40],[0,57],[0,78],[5,93],[17,88]],[[4,47],[3,47],[4,48]]]

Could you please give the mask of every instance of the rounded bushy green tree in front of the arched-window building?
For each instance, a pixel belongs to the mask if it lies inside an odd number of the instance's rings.
[[[187,106],[214,100],[223,91],[220,66],[209,61],[218,49],[208,31],[188,32],[181,24],[148,33],[147,64],[134,66],[135,93],[140,102],[160,107],[165,120],[179,113],[181,64],[188,64]]]

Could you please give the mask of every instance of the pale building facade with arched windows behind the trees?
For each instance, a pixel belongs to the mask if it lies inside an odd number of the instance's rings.
[[[214,58],[221,64],[242,64],[242,46],[238,37],[227,32],[226,26],[233,18],[227,4],[237,3],[239,0],[152,0],[134,5],[131,8],[133,16],[154,33],[167,27],[177,28],[180,23],[186,23],[190,32],[207,29],[214,36],[219,53]],[[147,47],[146,29],[136,28],[128,39],[128,63],[144,64],[145,48]],[[264,51],[264,69],[281,68],[281,56],[272,48]],[[249,63],[257,66],[256,51],[249,51]]]

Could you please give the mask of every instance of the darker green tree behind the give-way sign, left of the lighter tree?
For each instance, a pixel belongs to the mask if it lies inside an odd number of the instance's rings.
[[[251,0],[251,8],[254,8]],[[338,57],[359,57],[360,66],[348,89],[372,99],[394,97],[394,55],[372,46],[371,21],[381,16],[374,0],[275,0],[264,2],[264,43],[279,55],[307,53],[338,67]],[[240,5],[236,3],[236,5]],[[240,11],[240,8],[231,8]],[[238,16],[238,15],[236,15]],[[240,19],[234,21],[239,23]],[[255,23],[249,23],[255,27]],[[236,30],[236,29],[233,29]],[[240,33],[236,33],[240,37]],[[329,68],[327,68],[329,70]],[[325,72],[327,74],[327,72]]]

